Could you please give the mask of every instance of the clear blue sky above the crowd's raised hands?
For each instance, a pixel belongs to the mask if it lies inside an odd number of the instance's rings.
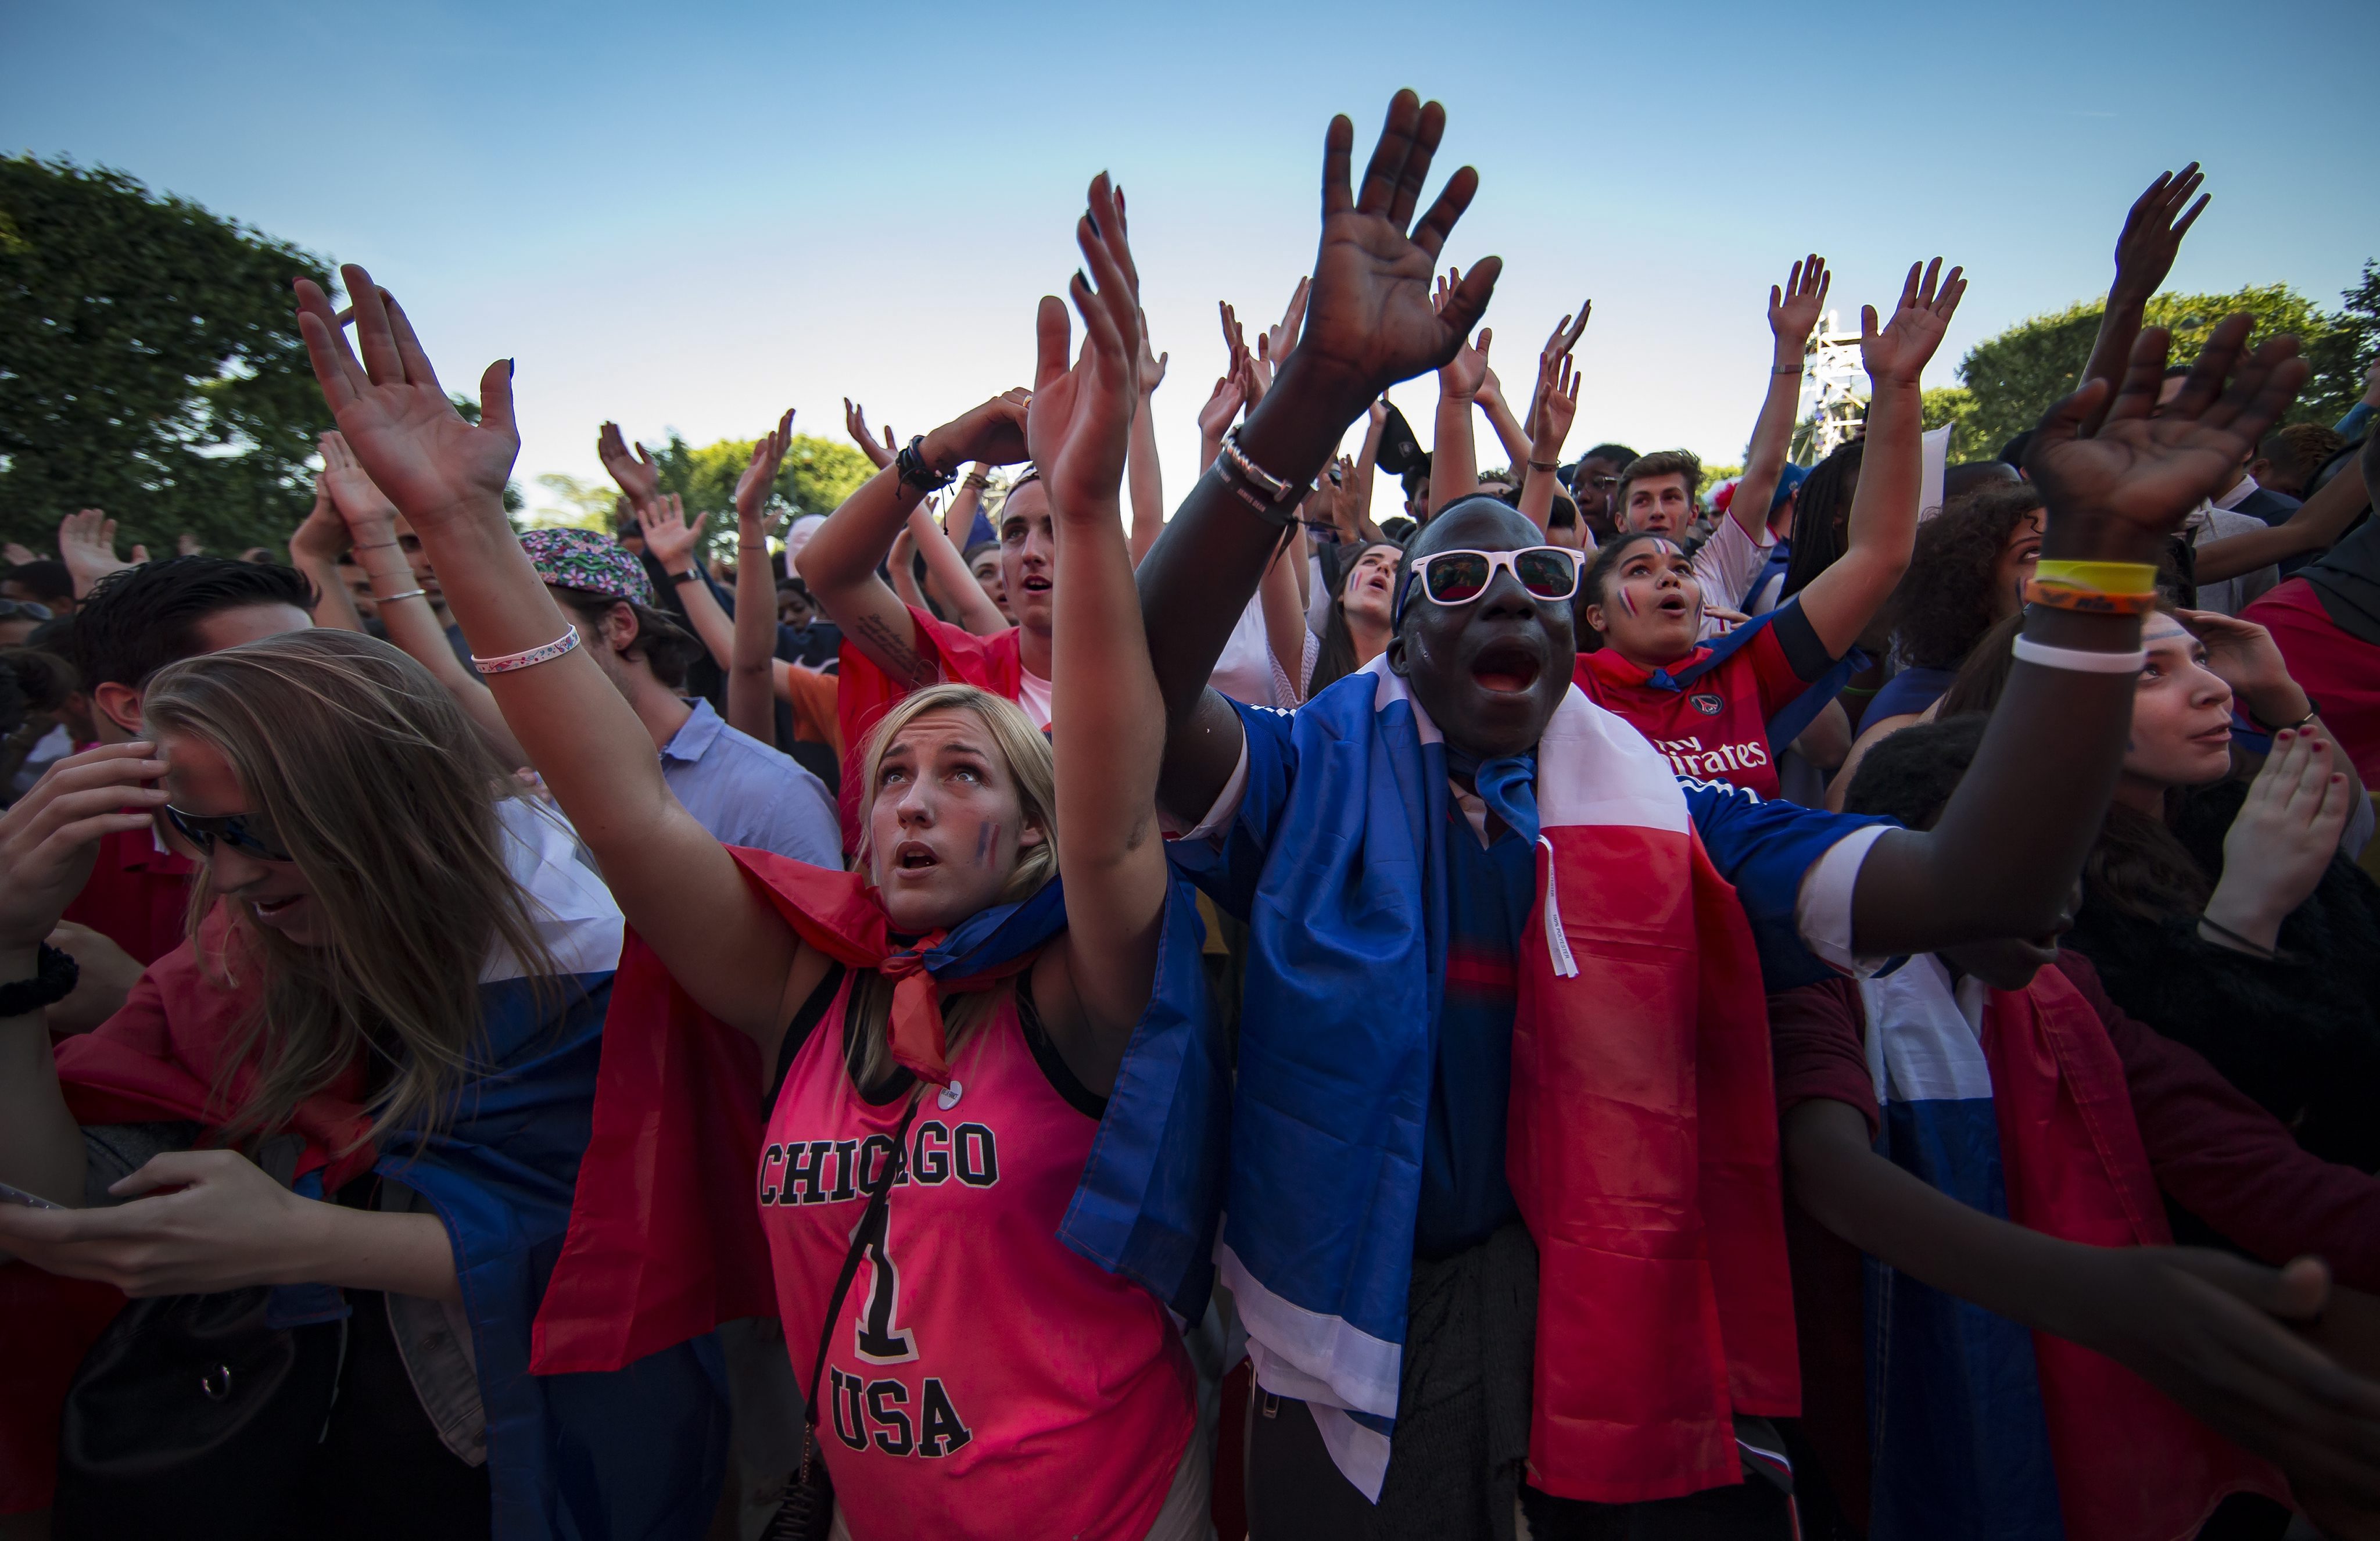
[[[1221,367],[1278,314],[1330,112],[1397,86],[1480,169],[1447,257],[1499,252],[1507,383],[1580,295],[1573,450],[1735,460],[1766,286],[1825,252],[1847,322],[1914,257],[1973,288],[1928,374],[2102,293],[2125,205],[2206,162],[2175,288],[2320,302],[2380,257],[2380,5],[290,5],[0,0],[0,145],[126,169],[364,262],[450,386],[519,357],[524,483],[595,424],[695,443],[776,410],[902,433],[1031,374],[1033,300],[1111,169],[1169,498]],[[1361,155],[1361,148],[1359,148]],[[1423,424],[1430,383],[1397,391]],[[1483,429],[1485,436],[1485,429]],[[1499,455],[1483,443],[1483,460]]]

